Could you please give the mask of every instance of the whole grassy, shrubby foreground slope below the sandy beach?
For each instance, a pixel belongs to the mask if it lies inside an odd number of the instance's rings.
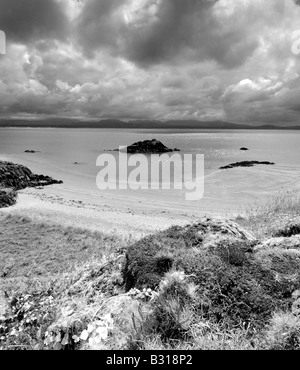
[[[0,348],[300,349],[299,210],[138,241],[0,214]]]

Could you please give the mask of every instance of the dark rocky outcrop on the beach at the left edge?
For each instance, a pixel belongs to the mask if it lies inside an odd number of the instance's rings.
[[[36,175],[20,164],[0,161],[0,208],[16,203],[17,190],[54,184],[62,184],[62,181]]]

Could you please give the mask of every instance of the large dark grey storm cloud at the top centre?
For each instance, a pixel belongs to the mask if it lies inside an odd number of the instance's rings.
[[[218,1],[150,0],[143,4],[144,17],[139,10],[126,21],[132,1],[87,0],[79,40],[88,55],[105,47],[143,67],[215,60],[233,68],[253,53],[258,39],[238,19],[224,24],[214,12]]]

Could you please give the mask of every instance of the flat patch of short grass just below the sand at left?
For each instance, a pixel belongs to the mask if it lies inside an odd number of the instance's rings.
[[[117,236],[0,214],[0,277],[51,276],[124,248]]]

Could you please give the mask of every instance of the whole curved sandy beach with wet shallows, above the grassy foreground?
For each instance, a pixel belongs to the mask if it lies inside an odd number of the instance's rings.
[[[1,159],[24,163],[24,158]],[[26,165],[45,172],[42,164],[30,165],[27,160]],[[168,191],[100,191],[79,175],[51,172],[53,175],[64,184],[19,191],[17,204],[1,212],[139,238],[202,216],[234,218],[247,206],[267,202],[281,190],[300,190],[300,170],[280,166],[216,171],[205,177],[205,195],[197,202]]]

